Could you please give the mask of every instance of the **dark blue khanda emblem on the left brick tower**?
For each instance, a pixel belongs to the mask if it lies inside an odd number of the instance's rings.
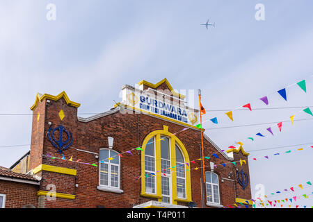
[[[58,131],[58,139],[54,137],[54,133],[56,133],[56,131]],[[60,154],[63,154],[63,151],[69,148],[73,142],[72,133],[67,131],[62,125],[54,129],[50,127],[47,136],[51,144],[54,145],[55,148],[58,148],[58,153]]]

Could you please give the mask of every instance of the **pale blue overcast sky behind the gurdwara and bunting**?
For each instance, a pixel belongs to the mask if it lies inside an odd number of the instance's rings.
[[[55,21],[47,20],[48,3],[56,6]],[[265,21],[255,19],[257,3],[265,6]],[[202,89],[204,128],[220,148],[245,140],[250,158],[268,155],[268,160],[250,160],[252,196],[257,184],[264,185],[265,194],[305,186],[313,182],[313,121],[296,120],[310,115],[301,108],[246,110],[234,112],[230,121],[224,111],[209,110],[246,103],[252,109],[313,105],[312,6],[310,0],[2,0],[0,114],[31,114],[37,92],[57,95],[63,90],[81,103],[79,113],[104,112],[120,100],[122,85],[168,78],[177,90]],[[200,26],[207,19],[216,27]],[[306,94],[297,85],[287,88],[287,101],[275,93],[303,79]],[[259,101],[262,96],[268,96],[268,106]],[[294,125],[284,122],[281,133],[275,126],[274,136],[266,133],[271,122],[293,114]],[[218,125],[208,121],[213,117]],[[0,146],[31,143],[31,116],[4,115],[0,123]],[[268,124],[233,127],[254,123]],[[259,132],[266,137],[257,138]],[[268,149],[296,144],[308,145]],[[29,146],[0,148],[0,166],[10,167],[27,151]],[[291,205],[311,207],[313,197]]]

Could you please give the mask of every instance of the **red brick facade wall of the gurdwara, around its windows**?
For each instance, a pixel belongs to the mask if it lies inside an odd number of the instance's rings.
[[[45,123],[42,123],[42,128],[33,129],[33,134],[45,135],[45,137],[42,138],[44,143],[44,155],[50,154],[62,157],[56,153],[56,148],[54,148],[49,142],[49,139],[47,139],[47,131],[49,130],[48,121],[53,123],[52,127],[56,127],[62,123],[67,130],[72,132],[74,137],[72,146],[65,151],[65,158],[67,160],[72,156],[74,161],[81,159],[81,162],[97,162],[98,160],[95,159],[94,154],[83,153],[77,151],[76,148],[99,153],[99,148],[108,147],[107,137],[109,136],[114,138],[113,149],[123,153],[132,148],[141,146],[143,139],[145,139],[149,133],[154,130],[163,129],[163,125],[168,126],[170,133],[176,133],[184,128],[184,126],[179,126],[163,119],[150,117],[146,114],[120,114],[120,112],[84,123],[77,120],[77,108],[67,105],[64,99],[51,101],[51,103],[47,103],[45,108]],[[58,117],[58,112],[61,109],[65,112],[63,121]],[[35,112],[36,111],[34,111],[34,113]],[[36,117],[37,116],[34,114],[33,118],[35,119]],[[35,121],[37,121],[37,119],[35,119]],[[33,128],[37,127],[35,125],[33,121]],[[200,158],[201,135],[199,130],[185,130],[182,133],[178,133],[176,136],[186,147],[190,160]],[[35,135],[32,135],[32,138],[33,137],[35,137]],[[31,146],[32,150],[35,149],[35,151],[31,152],[33,153],[33,155],[31,155],[31,161],[35,161],[36,164],[40,163],[38,162],[38,158],[41,158],[41,151],[36,150],[38,148],[40,147]],[[230,162],[204,139],[204,155],[207,156],[212,153],[217,153],[219,158],[211,157],[210,160],[205,160],[205,165],[207,166],[206,170],[209,171],[210,169],[209,161],[215,164]],[[96,207],[97,205],[104,205],[105,207],[132,207],[133,205],[145,203],[149,200],[157,200],[145,198],[140,195],[141,180],[136,180],[135,178],[141,174],[141,155],[138,155],[138,151],[133,152],[133,154],[134,156],[125,154],[124,157],[121,158],[120,189],[124,191],[122,194],[97,190],[99,183],[99,169],[97,167],[77,162],[69,162],[67,160],[51,160],[48,157],[43,157],[43,164],[77,169],[76,177],[63,175],[61,173],[51,173],[49,171],[42,173],[40,190],[46,190],[46,186],[52,183],[56,185],[56,192],[76,195],[74,200],[57,198],[56,201],[46,201],[46,207]],[[34,165],[33,163],[32,166]],[[195,167],[202,167],[202,165],[200,162],[191,164],[191,168]],[[246,167],[248,167],[248,164]],[[227,178],[230,171],[235,172],[233,164],[227,164],[226,167],[220,165],[215,169],[220,181],[220,201],[222,205],[234,204],[235,200],[234,182],[230,180],[221,182],[221,178]],[[191,170],[192,200],[198,207],[202,205],[200,189],[201,177],[202,173],[200,169],[198,169],[198,171]],[[79,187],[75,187],[76,183]],[[241,191],[238,185],[236,185],[236,193],[237,196],[241,198],[248,198],[250,196],[250,186],[246,188],[246,191]],[[182,205],[186,205],[186,203],[182,203]]]

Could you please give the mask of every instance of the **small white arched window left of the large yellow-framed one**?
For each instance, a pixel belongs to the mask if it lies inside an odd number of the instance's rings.
[[[100,149],[99,187],[120,189],[120,156],[118,154],[111,149]]]

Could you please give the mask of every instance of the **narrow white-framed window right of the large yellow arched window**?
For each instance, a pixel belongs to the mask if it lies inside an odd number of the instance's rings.
[[[220,203],[220,189],[218,175],[213,172],[205,172],[207,203]]]

